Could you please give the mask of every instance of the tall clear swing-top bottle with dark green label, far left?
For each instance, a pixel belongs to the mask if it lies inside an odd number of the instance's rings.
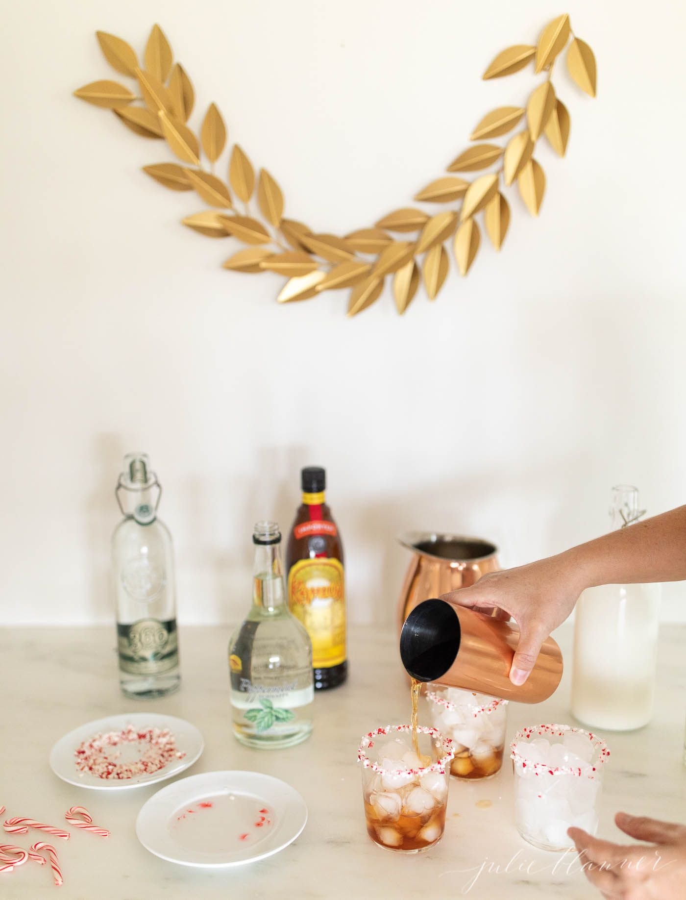
[[[115,491],[124,518],[112,535],[121,690],[163,697],[179,687],[172,536],[157,518],[162,488],[147,455],[128,454]]]

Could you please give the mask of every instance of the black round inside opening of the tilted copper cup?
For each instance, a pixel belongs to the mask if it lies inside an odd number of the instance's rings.
[[[450,603],[424,600],[405,619],[400,659],[416,680],[435,681],[455,662],[459,639],[459,618]]]

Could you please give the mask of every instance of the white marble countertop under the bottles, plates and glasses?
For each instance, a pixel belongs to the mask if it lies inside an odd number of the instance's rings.
[[[513,825],[508,763],[498,776],[480,785],[451,779],[446,831],[435,848],[402,856],[370,842],[356,752],[363,732],[406,721],[409,715],[409,689],[394,634],[353,630],[348,683],[316,697],[312,738],[281,751],[249,750],[231,734],[228,635],[225,627],[182,628],[181,690],[160,701],[131,701],[120,694],[113,629],[0,630],[0,805],[8,807],[7,815],[59,824],[68,806],[82,804],[96,824],[111,830],[107,841],[75,833],[68,843],[56,842],[65,879],[58,894],[62,900],[600,896],[581,872],[567,871],[568,863],[554,870],[559,854],[537,851],[521,841]],[[557,636],[564,652],[571,636],[568,627]],[[601,798],[601,833],[610,839],[619,840],[612,823],[618,809],[686,819],[685,643],[686,626],[663,627],[652,724],[634,733],[603,734],[611,757]],[[62,734],[92,719],[146,708],[182,716],[200,728],[205,752],[186,774],[252,769],[297,788],[309,807],[307,827],[298,841],[270,859],[238,869],[177,866],[148,853],[134,832],[138,809],[164,784],[105,795],[71,787],[49,770],[50,747]],[[557,693],[538,707],[511,704],[508,741],[521,725],[567,721],[568,673]],[[477,801],[483,799],[492,805],[478,807]],[[32,841],[39,840],[37,832],[32,834]],[[16,840],[22,845],[26,838]],[[8,900],[52,896],[46,869],[27,864],[0,875],[0,896]]]

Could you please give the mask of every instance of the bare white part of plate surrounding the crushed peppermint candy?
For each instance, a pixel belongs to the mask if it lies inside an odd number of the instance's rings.
[[[168,728],[174,734],[176,750],[185,753],[181,760],[174,759],[168,762],[164,769],[151,772],[149,775],[137,775],[130,779],[100,779],[90,772],[80,772],[76,769],[74,752],[80,743],[102,732],[118,732],[133,725],[136,728]],[[152,785],[157,781],[164,781],[178,775],[192,766],[198,759],[205,746],[202,735],[198,729],[177,719],[175,716],[161,716],[158,713],[123,713],[121,716],[108,716],[106,719],[96,719],[87,725],[75,728],[73,732],[65,734],[50,751],[50,769],[63,781],[70,785],[78,785],[79,788],[94,788],[96,790],[123,790],[125,788],[140,788],[143,785]],[[129,750],[129,748],[127,748]],[[131,747],[133,756],[136,749]]]

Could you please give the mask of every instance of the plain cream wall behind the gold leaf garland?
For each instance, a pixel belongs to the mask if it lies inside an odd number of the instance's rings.
[[[129,449],[165,485],[187,622],[244,612],[251,527],[288,525],[301,464],[327,468],[360,623],[388,624],[402,529],[486,536],[516,564],[601,532],[615,482],[653,513],[686,502],[686,7],[567,8],[599,95],[557,76],[572,137],[564,160],[539,153],[540,219],[512,193],[500,256],[483,247],[403,319],[385,295],[347,320],[343,293],[277,307],[280,279],[223,271],[233,242],[177,223],[202,204],[140,172],[172,159],[162,143],[70,95],[116,77],[94,31],[142,49],[162,23],[200,108],[218,103],[288,213],[344,233],[441,175],[486,111],[524,101],[530,75],[481,72],[562,7],[5,4],[4,623],[111,621]],[[664,617],[686,620],[682,585]]]

